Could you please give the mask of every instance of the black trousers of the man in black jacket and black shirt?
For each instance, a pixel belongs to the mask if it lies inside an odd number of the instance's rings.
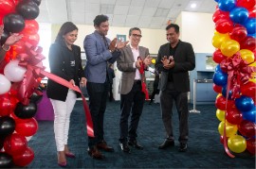
[[[189,110],[188,93],[179,93],[174,89],[174,83],[168,82],[166,90],[160,93],[160,105],[162,120],[166,130],[167,139],[174,140],[173,133],[173,101],[175,102],[179,119],[179,139],[180,143],[188,142],[189,135]]]

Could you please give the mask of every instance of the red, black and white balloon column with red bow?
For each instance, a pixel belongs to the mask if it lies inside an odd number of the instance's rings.
[[[23,34],[21,41],[10,46],[0,63],[0,168],[26,166],[34,159],[27,137],[38,129],[33,118],[42,98],[38,86],[44,70],[39,42],[41,0],[0,0],[0,25],[4,25],[1,45],[11,33]]]

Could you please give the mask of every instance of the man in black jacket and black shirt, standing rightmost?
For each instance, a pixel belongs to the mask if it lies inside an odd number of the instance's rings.
[[[164,149],[174,146],[172,126],[173,100],[179,118],[179,151],[187,150],[189,136],[188,92],[190,92],[189,71],[195,67],[192,44],[179,40],[179,26],[166,27],[167,43],[160,46],[155,69],[161,73],[159,80],[162,120],[166,130],[166,139],[158,146]]]

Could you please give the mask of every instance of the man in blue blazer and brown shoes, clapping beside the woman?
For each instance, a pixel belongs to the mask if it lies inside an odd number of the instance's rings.
[[[109,91],[107,62],[114,63],[119,57],[119,49],[124,47],[127,42],[117,42],[117,38],[111,42],[105,37],[109,29],[108,17],[105,15],[96,16],[94,27],[96,30],[87,35],[83,42],[87,59],[84,75],[87,78],[89,108],[95,135],[95,137],[88,137],[88,154],[94,159],[102,160],[105,157],[99,149],[114,151],[103,138],[103,119]]]

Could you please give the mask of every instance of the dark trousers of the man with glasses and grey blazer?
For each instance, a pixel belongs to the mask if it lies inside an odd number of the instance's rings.
[[[134,83],[130,93],[120,95],[120,143],[137,138],[137,126],[143,110],[145,93],[141,92],[141,82]],[[128,129],[128,119],[131,113],[131,122]]]

